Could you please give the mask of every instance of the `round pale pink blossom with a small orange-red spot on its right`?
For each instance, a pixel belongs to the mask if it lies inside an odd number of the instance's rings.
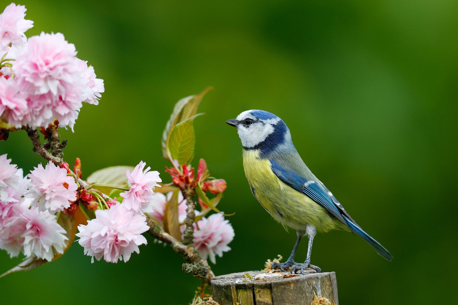
[[[40,211],[48,210],[54,214],[70,207],[69,201],[76,200],[78,186],[74,178],[67,176],[64,168],[55,166],[51,161],[45,168],[38,164],[28,176],[32,182],[25,197],[33,198],[32,206]]]

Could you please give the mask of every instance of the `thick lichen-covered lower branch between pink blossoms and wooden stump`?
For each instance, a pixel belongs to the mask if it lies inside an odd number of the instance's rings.
[[[194,214],[194,210],[192,210],[192,214]],[[184,263],[182,266],[185,273],[191,273],[197,278],[202,278],[202,280],[207,284],[210,284],[211,278],[214,276],[213,271],[208,265],[208,262],[202,259],[199,253],[192,246],[186,246],[184,243],[175,239],[172,235],[166,233],[149,217],[147,217],[147,225],[150,227],[148,233],[151,236],[169,244],[175,252],[183,255],[185,261],[188,262]]]

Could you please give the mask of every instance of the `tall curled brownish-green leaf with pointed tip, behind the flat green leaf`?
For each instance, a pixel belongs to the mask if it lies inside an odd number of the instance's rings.
[[[165,159],[171,159],[169,151],[170,136],[175,128],[175,125],[181,123],[196,114],[197,106],[202,101],[203,96],[213,89],[212,87],[205,88],[201,93],[187,96],[178,101],[170,115],[169,121],[165,124],[164,132],[162,133],[162,155]]]

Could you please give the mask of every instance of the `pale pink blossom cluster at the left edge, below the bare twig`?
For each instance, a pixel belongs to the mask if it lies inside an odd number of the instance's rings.
[[[68,205],[67,199],[56,194],[62,192],[62,184],[70,183],[66,172],[63,178],[55,174],[56,170],[59,168],[52,163],[45,168],[40,165],[28,175],[31,180],[23,177],[22,169],[11,164],[6,155],[0,156],[0,249],[11,257],[22,252],[26,257],[51,261],[64,252],[68,237],[49,209],[61,210]],[[40,201],[39,208],[31,207]]]

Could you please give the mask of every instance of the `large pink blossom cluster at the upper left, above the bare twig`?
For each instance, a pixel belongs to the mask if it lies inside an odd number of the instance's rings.
[[[25,11],[11,3],[0,14],[0,122],[39,127],[56,118],[73,130],[82,102],[97,105],[104,81],[61,33],[27,39]]]

